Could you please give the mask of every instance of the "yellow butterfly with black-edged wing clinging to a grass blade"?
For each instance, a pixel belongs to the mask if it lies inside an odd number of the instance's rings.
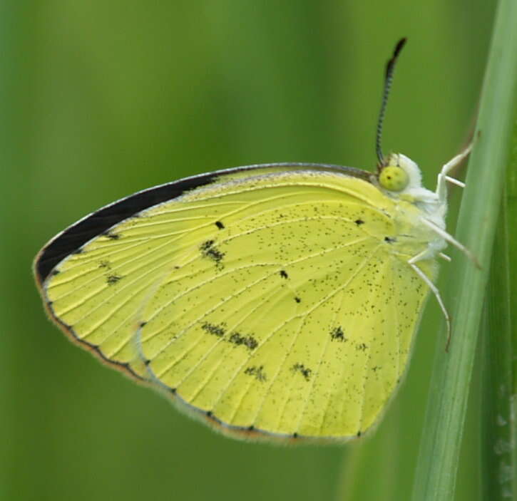
[[[50,318],[111,366],[238,438],[346,440],[399,385],[446,242],[436,191],[380,148],[377,173],[251,165],[143,190],[34,262]]]

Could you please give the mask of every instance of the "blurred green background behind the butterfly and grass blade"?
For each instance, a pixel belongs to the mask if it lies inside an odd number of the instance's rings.
[[[384,63],[401,36],[384,150],[419,162],[433,187],[469,138],[494,9],[2,2],[0,499],[408,498],[435,346],[444,352],[432,299],[377,433],[278,447],[217,435],[69,343],[43,313],[31,260],[88,212],[178,177],[280,161],[373,169]],[[442,267],[442,287],[452,272]],[[476,393],[474,381],[457,500],[478,495]]]

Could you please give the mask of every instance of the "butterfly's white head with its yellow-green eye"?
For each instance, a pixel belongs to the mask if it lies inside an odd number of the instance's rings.
[[[421,172],[413,160],[401,153],[390,153],[379,166],[377,180],[382,190],[401,195],[421,187]]]

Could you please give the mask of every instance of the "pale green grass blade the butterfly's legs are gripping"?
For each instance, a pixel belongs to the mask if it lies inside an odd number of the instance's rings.
[[[498,6],[474,151],[456,237],[481,263],[453,252],[454,281],[446,304],[454,322],[449,353],[439,346],[416,465],[414,501],[452,500],[493,237],[509,152],[517,81],[517,2]]]

